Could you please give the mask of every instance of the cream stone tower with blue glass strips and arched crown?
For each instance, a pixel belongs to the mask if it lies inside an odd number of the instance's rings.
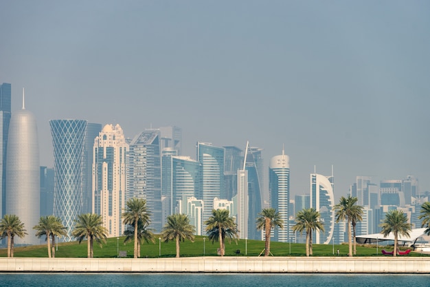
[[[128,144],[120,125],[105,125],[93,146],[93,213],[102,215],[107,237],[117,237],[124,231]]]

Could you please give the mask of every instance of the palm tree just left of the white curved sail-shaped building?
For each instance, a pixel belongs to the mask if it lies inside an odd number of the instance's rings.
[[[321,214],[316,209],[302,209],[295,215],[294,232],[306,231],[306,256],[313,255],[312,231],[323,231],[324,223],[320,220]]]

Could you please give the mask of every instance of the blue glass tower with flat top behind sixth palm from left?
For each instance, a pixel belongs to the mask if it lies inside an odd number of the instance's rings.
[[[197,142],[197,160],[201,164],[200,195],[203,200],[203,222],[212,215],[214,198],[225,198],[224,192],[224,148],[210,143]]]

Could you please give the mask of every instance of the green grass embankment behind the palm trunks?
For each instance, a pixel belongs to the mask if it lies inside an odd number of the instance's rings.
[[[164,243],[161,242],[161,256],[159,256],[159,240],[158,235],[155,237],[155,244],[147,244],[146,242],[141,246],[141,257],[157,258],[157,257],[175,257],[176,249],[174,242]],[[118,243],[118,246],[117,246]],[[115,258],[117,257],[117,248],[119,251],[126,251],[127,257],[133,257],[133,242],[124,244],[124,237],[118,240],[116,237],[108,238],[106,244],[100,247],[94,244],[94,257],[95,258]],[[196,257],[196,256],[217,256],[216,248],[219,247],[218,242],[212,244],[209,240],[203,241],[203,236],[196,236],[194,242],[181,242],[181,257]],[[225,256],[258,256],[262,253],[264,248],[264,241],[260,240],[238,240],[228,242],[225,244]],[[335,245],[335,256],[337,256],[337,248],[339,248],[339,256],[347,256],[348,244]],[[374,246],[358,246],[356,256],[384,256],[381,254],[382,249],[389,250],[392,246],[378,246],[378,253],[376,253],[376,245]],[[245,254],[246,252],[246,254]],[[304,244],[290,244],[282,242],[271,242],[271,253],[274,256],[306,256]],[[0,257],[6,257],[6,248],[0,249]],[[333,246],[326,244],[313,244],[313,256],[333,256]],[[409,253],[411,256],[428,256],[420,253]],[[47,257],[47,245],[36,246],[23,246],[14,248],[14,257]],[[81,244],[78,242],[65,242],[58,244],[58,251],[56,257],[87,257],[87,241]]]

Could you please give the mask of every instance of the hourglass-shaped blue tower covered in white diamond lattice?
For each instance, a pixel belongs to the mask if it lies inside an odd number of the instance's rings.
[[[87,120],[50,120],[54,145],[54,215],[67,228],[64,241],[71,241],[76,217],[82,214],[82,165]]]

